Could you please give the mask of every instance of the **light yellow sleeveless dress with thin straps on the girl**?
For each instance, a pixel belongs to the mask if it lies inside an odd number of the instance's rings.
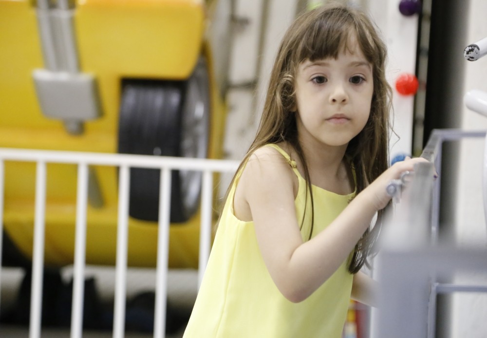
[[[291,164],[289,155],[275,148]],[[299,190],[295,200],[298,223],[305,208],[306,182],[296,168]],[[240,174],[230,190],[211,249],[205,276],[184,338],[340,338],[350,302],[353,275],[343,262],[311,296],[293,303],[272,281],[257,244],[253,222],[237,219],[233,197]],[[328,226],[355,192],[338,195],[313,186],[314,234]],[[309,201],[309,199],[308,199]],[[310,229],[311,203],[301,228]],[[326,259],[324,257],[323,259]]]

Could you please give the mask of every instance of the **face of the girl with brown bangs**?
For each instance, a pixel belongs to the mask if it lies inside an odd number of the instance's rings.
[[[374,81],[372,65],[351,37],[337,59],[302,62],[296,74],[297,126],[302,142],[345,146],[365,126]]]

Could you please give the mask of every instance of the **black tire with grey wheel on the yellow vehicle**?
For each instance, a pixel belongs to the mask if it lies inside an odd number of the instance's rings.
[[[205,62],[198,62],[187,81],[123,81],[118,152],[204,158],[208,137]],[[159,181],[160,170],[130,170],[131,217],[158,220]],[[194,215],[199,207],[200,191],[200,172],[172,171],[171,223],[184,223]]]

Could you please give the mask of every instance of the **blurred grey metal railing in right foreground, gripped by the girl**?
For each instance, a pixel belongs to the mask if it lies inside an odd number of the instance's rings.
[[[454,246],[438,239],[440,180],[434,181],[434,169],[441,177],[445,141],[471,137],[486,137],[486,131],[432,132],[421,155],[430,163],[415,166],[393,216],[384,225],[386,233],[376,262],[382,289],[374,337],[433,338],[437,294],[487,292],[487,285],[438,282],[451,279],[459,271],[487,270],[485,246]]]

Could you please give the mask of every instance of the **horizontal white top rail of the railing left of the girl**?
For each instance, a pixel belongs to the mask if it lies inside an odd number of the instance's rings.
[[[235,171],[240,162],[207,158],[186,158],[152,155],[114,154],[58,150],[25,150],[0,148],[0,157],[13,161],[43,161],[50,163],[85,162],[99,166],[130,166],[147,169]]]

